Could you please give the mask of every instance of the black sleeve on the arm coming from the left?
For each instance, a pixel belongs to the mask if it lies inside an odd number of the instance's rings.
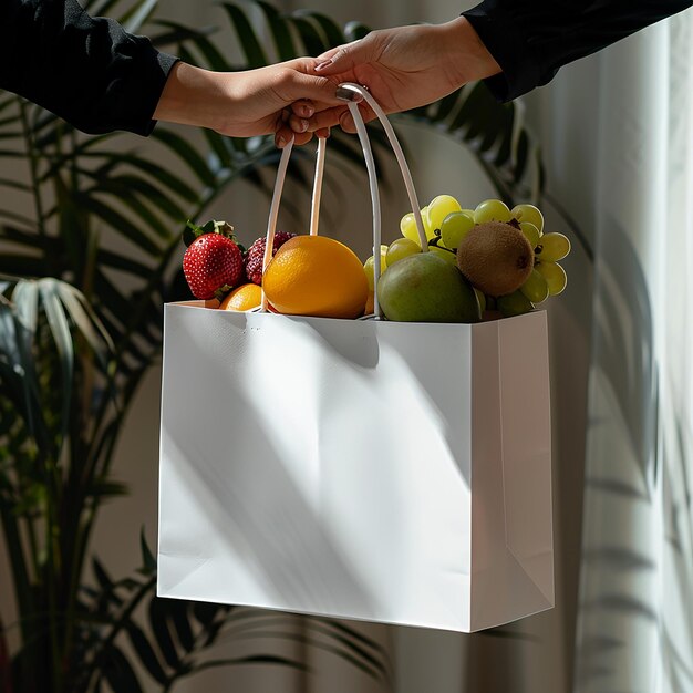
[[[176,60],[76,0],[0,0],[0,89],[85,133],[148,135]]]

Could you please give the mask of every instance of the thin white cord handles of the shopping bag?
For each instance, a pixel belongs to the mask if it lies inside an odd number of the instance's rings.
[[[406,159],[404,158],[404,152],[402,151],[402,146],[395,135],[394,128],[392,124],[387,120],[385,112],[380,107],[379,103],[373,99],[373,96],[369,93],[369,91],[361,86],[360,84],[353,84],[351,82],[345,82],[340,84],[337,90],[337,95],[340,97],[340,92],[344,96],[344,100],[348,102],[349,111],[356,126],[356,133],[359,135],[359,141],[361,143],[361,148],[363,149],[363,158],[365,161],[365,167],[369,174],[369,187],[371,190],[371,203],[373,207],[373,286],[375,287],[375,292],[373,297],[373,310],[375,312],[376,318],[382,319],[382,311],[380,310],[380,304],[377,301],[377,281],[381,275],[381,257],[380,257],[380,246],[381,246],[381,227],[382,227],[382,215],[381,215],[381,205],[380,205],[380,189],[377,186],[377,176],[375,172],[375,161],[373,158],[373,152],[371,149],[371,142],[369,139],[368,131],[365,128],[365,124],[363,122],[363,117],[361,112],[359,111],[359,106],[351,101],[350,96],[345,94],[345,92],[356,92],[361,94],[363,100],[371,106],[379,121],[382,123],[385,134],[387,135],[387,139],[390,141],[390,145],[394,152],[395,158],[397,159],[397,164],[400,166],[400,172],[402,173],[402,177],[404,179],[404,186],[406,187],[406,193],[410,199],[410,205],[412,207],[412,211],[414,214],[414,220],[416,223],[416,230],[418,231],[418,241],[422,248],[422,251],[425,252],[428,250],[428,241],[426,238],[426,232],[424,230],[423,219],[421,218],[421,208],[418,205],[418,197],[416,196],[416,190],[414,188],[414,182],[412,179],[412,174],[410,172]],[[318,139],[318,157],[316,163],[316,178],[313,184],[313,196],[312,196],[312,205],[311,205],[311,221],[310,221],[310,234],[314,236],[318,234],[318,223],[320,216],[320,198],[322,193],[322,177],[324,172],[324,157],[325,157],[325,139]],[[277,170],[277,180],[275,182],[275,190],[272,194],[272,201],[270,205],[270,214],[269,220],[267,225],[267,241],[265,245],[265,257],[262,259],[262,273],[267,269],[270,260],[272,259],[272,248],[275,244],[275,230],[277,228],[277,218],[279,216],[279,203],[281,200],[281,194],[283,190],[283,184],[287,176],[287,168],[289,166],[289,158],[291,156],[291,151],[293,148],[293,139],[285,146],[281,158],[279,161],[279,168]],[[267,297],[265,296],[265,291],[262,291],[262,310],[267,310]]]

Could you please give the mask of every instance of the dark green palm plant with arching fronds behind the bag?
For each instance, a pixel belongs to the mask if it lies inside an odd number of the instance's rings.
[[[118,0],[96,6],[85,3],[92,13],[113,13]],[[155,0],[127,3],[120,20],[134,32],[146,23],[156,45],[215,70],[318,54],[368,31],[317,12],[252,6],[260,28],[244,8],[221,6],[242,64],[232,64],[209,31],[155,19]],[[272,39],[271,55],[260,31]],[[482,84],[400,118],[468,146],[504,199],[538,192],[541,166],[520,112],[498,105]],[[383,141],[377,127],[372,136]],[[136,693],[142,674],[124,642],[163,691],[200,668],[297,665],[268,654],[200,662],[225,633],[297,635],[282,630],[286,617],[156,599],[144,537],[142,566],[125,579],[90,558],[101,505],[126,492],[111,464],[137,386],[159,355],[162,306],[186,296],[175,267],[180,231],[238,179],[268,192],[263,170],[278,161],[271,141],[204,131],[200,144],[158,126],[143,153],[124,147],[121,134],[85,137],[8,93],[0,93],[0,157],[20,172],[0,178],[17,201],[0,209],[0,517],[19,612],[15,625],[0,622],[0,690]],[[354,138],[335,133],[332,149],[360,163]],[[178,172],[162,165],[162,155],[174,156]],[[290,173],[309,186],[299,164]],[[327,619],[306,623],[303,642],[389,678],[377,643]]]

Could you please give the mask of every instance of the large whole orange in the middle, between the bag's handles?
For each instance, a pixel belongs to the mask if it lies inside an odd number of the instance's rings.
[[[319,318],[358,318],[369,293],[361,260],[327,236],[286,241],[265,270],[262,286],[280,313]]]

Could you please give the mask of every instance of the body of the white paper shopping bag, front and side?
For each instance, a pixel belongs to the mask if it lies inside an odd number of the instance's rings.
[[[467,632],[554,606],[542,311],[168,304],[161,435],[161,597]]]

